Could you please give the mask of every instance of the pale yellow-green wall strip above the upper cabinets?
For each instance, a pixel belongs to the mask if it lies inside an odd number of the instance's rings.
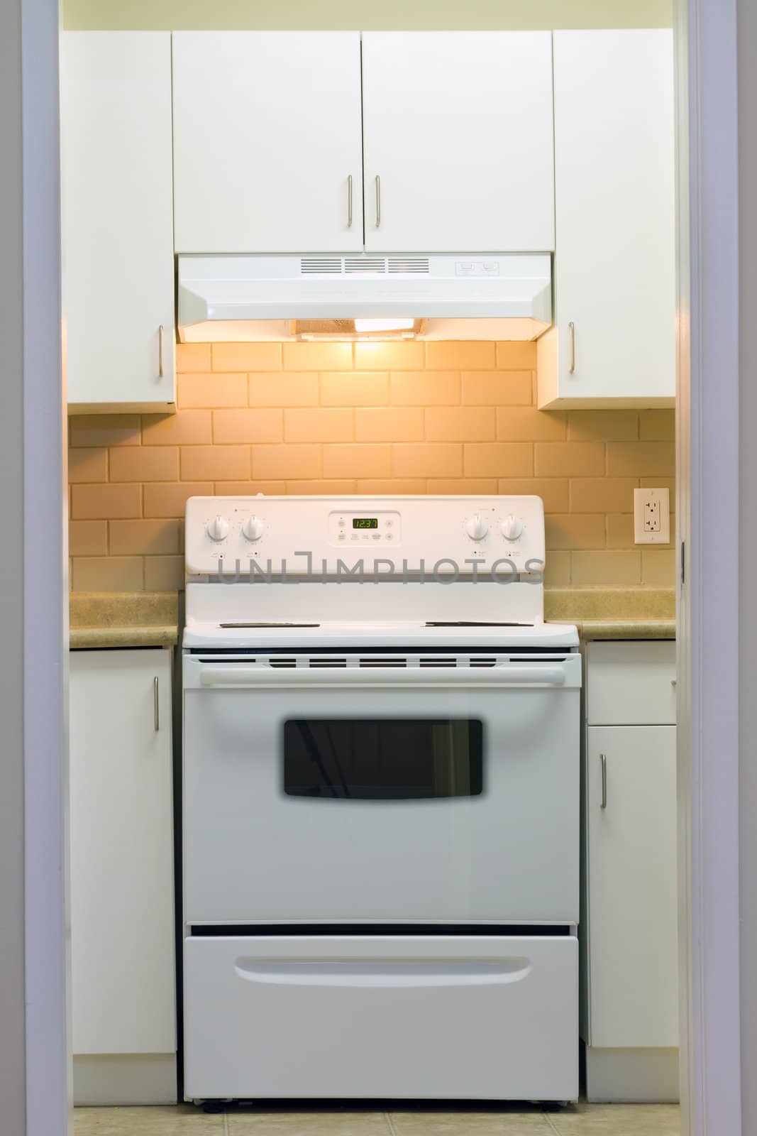
[[[670,27],[672,0],[64,0],[70,28]]]

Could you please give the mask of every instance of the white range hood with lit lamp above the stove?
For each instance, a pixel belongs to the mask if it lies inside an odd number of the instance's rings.
[[[550,323],[548,254],[178,258],[182,343],[535,340]]]

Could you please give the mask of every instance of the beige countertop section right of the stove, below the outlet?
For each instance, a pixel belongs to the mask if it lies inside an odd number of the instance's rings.
[[[545,618],[581,638],[675,638],[672,587],[546,587]]]

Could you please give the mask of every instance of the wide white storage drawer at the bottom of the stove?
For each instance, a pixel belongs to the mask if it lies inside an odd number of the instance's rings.
[[[187,938],[185,1095],[578,1096],[569,936]]]

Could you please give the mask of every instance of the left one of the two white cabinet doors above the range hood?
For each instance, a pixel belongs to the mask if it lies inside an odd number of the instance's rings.
[[[177,252],[362,250],[358,32],[175,32]]]

